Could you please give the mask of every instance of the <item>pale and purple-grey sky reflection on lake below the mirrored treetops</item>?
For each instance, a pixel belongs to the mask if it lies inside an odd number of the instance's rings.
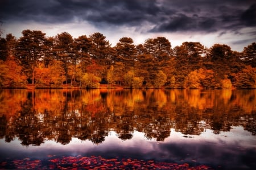
[[[10,143],[0,140],[2,159],[23,159],[31,157],[44,159],[47,155],[101,155],[106,158],[154,159],[159,161],[188,162],[208,164],[222,168],[255,167],[256,138],[243,127],[232,127],[229,132],[213,134],[205,130],[201,135],[187,135],[171,129],[171,135],[164,142],[147,140],[144,134],[134,131],[133,138],[121,140],[118,134],[110,131],[105,141],[98,145],[86,140],[72,138],[63,146],[54,141],[46,141],[41,146],[21,146],[15,139]]]

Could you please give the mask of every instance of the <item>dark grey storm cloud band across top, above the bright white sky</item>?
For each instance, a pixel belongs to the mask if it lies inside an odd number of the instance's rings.
[[[149,32],[237,31],[256,26],[254,0],[3,0],[0,20],[68,23],[85,20],[94,26],[150,24]]]

